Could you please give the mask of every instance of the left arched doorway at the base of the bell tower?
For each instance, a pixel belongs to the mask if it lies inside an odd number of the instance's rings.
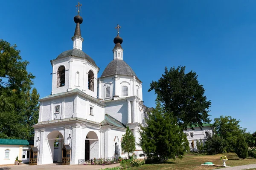
[[[47,135],[47,147],[44,149],[44,164],[61,162],[63,141],[63,135],[59,131],[52,131]]]

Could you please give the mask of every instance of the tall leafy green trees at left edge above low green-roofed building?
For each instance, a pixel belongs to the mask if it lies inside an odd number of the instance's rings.
[[[31,139],[38,121],[38,98],[32,90],[35,76],[27,72],[16,45],[0,39],[0,138]],[[31,96],[30,96],[31,95]]]

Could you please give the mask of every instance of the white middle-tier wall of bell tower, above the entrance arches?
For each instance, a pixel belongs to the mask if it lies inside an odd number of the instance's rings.
[[[59,112],[55,112],[56,106],[60,107]],[[92,115],[90,114],[90,107],[93,108]],[[73,116],[73,118],[84,118],[100,123],[104,120],[104,115],[103,106],[99,106],[93,100],[81,95],[73,94],[41,101],[38,122],[61,120]]]

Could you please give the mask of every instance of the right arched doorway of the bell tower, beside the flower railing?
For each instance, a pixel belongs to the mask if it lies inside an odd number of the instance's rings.
[[[97,134],[90,131],[85,138],[84,159],[99,158],[99,138]]]

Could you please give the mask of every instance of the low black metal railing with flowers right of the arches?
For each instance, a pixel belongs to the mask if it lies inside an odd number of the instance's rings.
[[[108,165],[117,164],[119,159],[116,158],[93,158],[93,159],[79,159],[79,165]]]

